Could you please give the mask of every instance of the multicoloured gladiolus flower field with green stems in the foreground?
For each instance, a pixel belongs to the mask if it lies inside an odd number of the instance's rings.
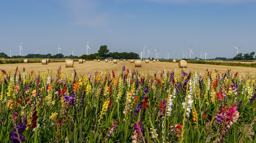
[[[203,72],[1,69],[0,142],[256,142],[256,77]]]

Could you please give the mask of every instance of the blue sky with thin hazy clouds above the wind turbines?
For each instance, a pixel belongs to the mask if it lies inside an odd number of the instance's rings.
[[[233,58],[256,52],[256,0],[3,0],[0,52],[58,54],[135,52],[145,58]]]

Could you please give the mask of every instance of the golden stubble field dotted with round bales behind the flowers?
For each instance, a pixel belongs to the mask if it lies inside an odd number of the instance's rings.
[[[79,63],[78,61],[74,62],[73,67],[65,67],[65,62],[56,62],[56,63],[48,63],[47,65],[42,65],[41,63],[13,63],[13,64],[1,64],[0,69],[4,69],[6,72],[15,72],[16,67],[18,66],[18,70],[22,72],[23,68],[25,71],[30,72],[34,70],[36,73],[38,72],[47,72],[47,70],[52,70],[55,73],[58,67],[61,66],[62,73],[72,74],[74,69],[77,73],[86,74],[86,72],[90,72],[91,74],[94,72],[112,72],[114,71],[115,74],[121,72],[122,67],[125,66],[126,69],[135,70],[139,73],[146,73],[146,72],[158,72],[163,71],[172,71],[172,70],[181,70],[178,67],[178,63],[171,63],[171,62],[155,62],[149,61],[149,63],[145,63],[145,61],[141,61],[141,67],[135,67],[134,63],[130,63],[130,61],[118,61],[116,64],[113,61],[86,61],[85,63]],[[235,74],[238,72],[239,75],[245,76],[245,74],[249,73],[250,75],[256,74],[256,68],[254,67],[238,67],[238,66],[225,66],[225,65],[207,65],[207,64],[193,64],[188,63],[187,68],[184,68],[185,71],[189,70],[191,72],[195,72],[196,69],[201,74],[205,74],[207,69],[209,72],[214,72],[217,70],[220,73],[226,72],[228,69],[231,69],[231,74]]]

